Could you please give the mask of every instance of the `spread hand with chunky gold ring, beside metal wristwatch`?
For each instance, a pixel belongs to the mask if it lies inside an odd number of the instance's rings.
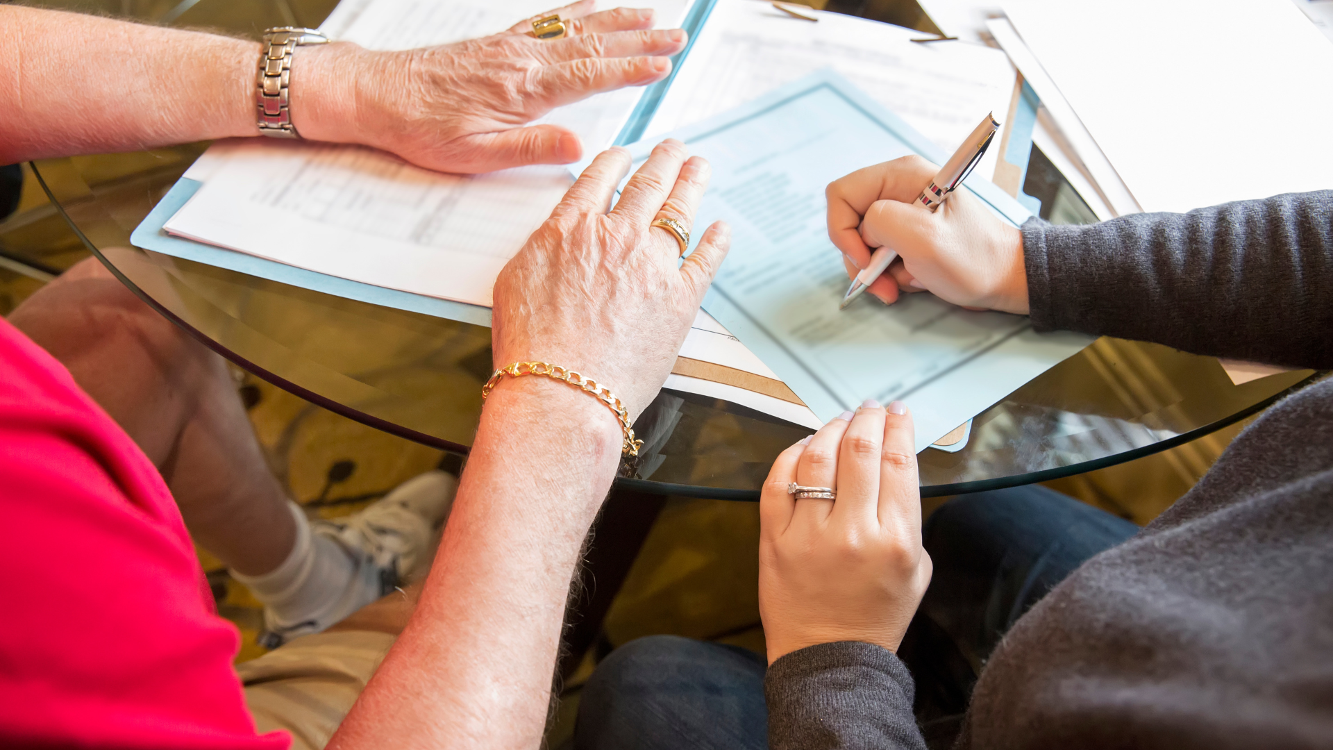
[[[308,139],[373,145],[441,172],[576,161],[577,135],[528,123],[593,93],[661,80],[669,56],[685,47],[681,29],[649,31],[652,11],[593,13],[593,5],[551,11],[565,20],[567,36],[556,40],[528,36],[529,19],[495,36],[405,52],[303,48],[293,123]]]

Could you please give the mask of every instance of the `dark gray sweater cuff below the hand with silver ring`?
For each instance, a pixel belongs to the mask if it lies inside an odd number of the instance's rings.
[[[768,667],[772,750],[925,750],[908,667],[889,650],[844,641],[792,651]]]

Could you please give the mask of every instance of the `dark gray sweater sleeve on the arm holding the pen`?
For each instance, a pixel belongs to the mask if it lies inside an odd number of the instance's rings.
[[[1032,322],[1194,354],[1333,367],[1333,191],[1022,226]]]

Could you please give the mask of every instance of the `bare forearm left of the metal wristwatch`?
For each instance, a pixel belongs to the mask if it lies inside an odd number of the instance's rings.
[[[257,135],[259,44],[0,5],[0,164]]]

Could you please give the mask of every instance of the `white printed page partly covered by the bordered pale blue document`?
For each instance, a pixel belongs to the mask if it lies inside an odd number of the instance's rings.
[[[841,13],[793,19],[756,0],[718,0],[698,33],[645,140],[745,104],[774,88],[832,68],[925,133],[946,153],[986,112],[1004,119],[1014,69],[978,44],[914,44],[921,32]],[[997,139],[998,140],[998,139]],[[993,149],[977,173],[994,172]],[[868,167],[882,161],[872,159]]]

